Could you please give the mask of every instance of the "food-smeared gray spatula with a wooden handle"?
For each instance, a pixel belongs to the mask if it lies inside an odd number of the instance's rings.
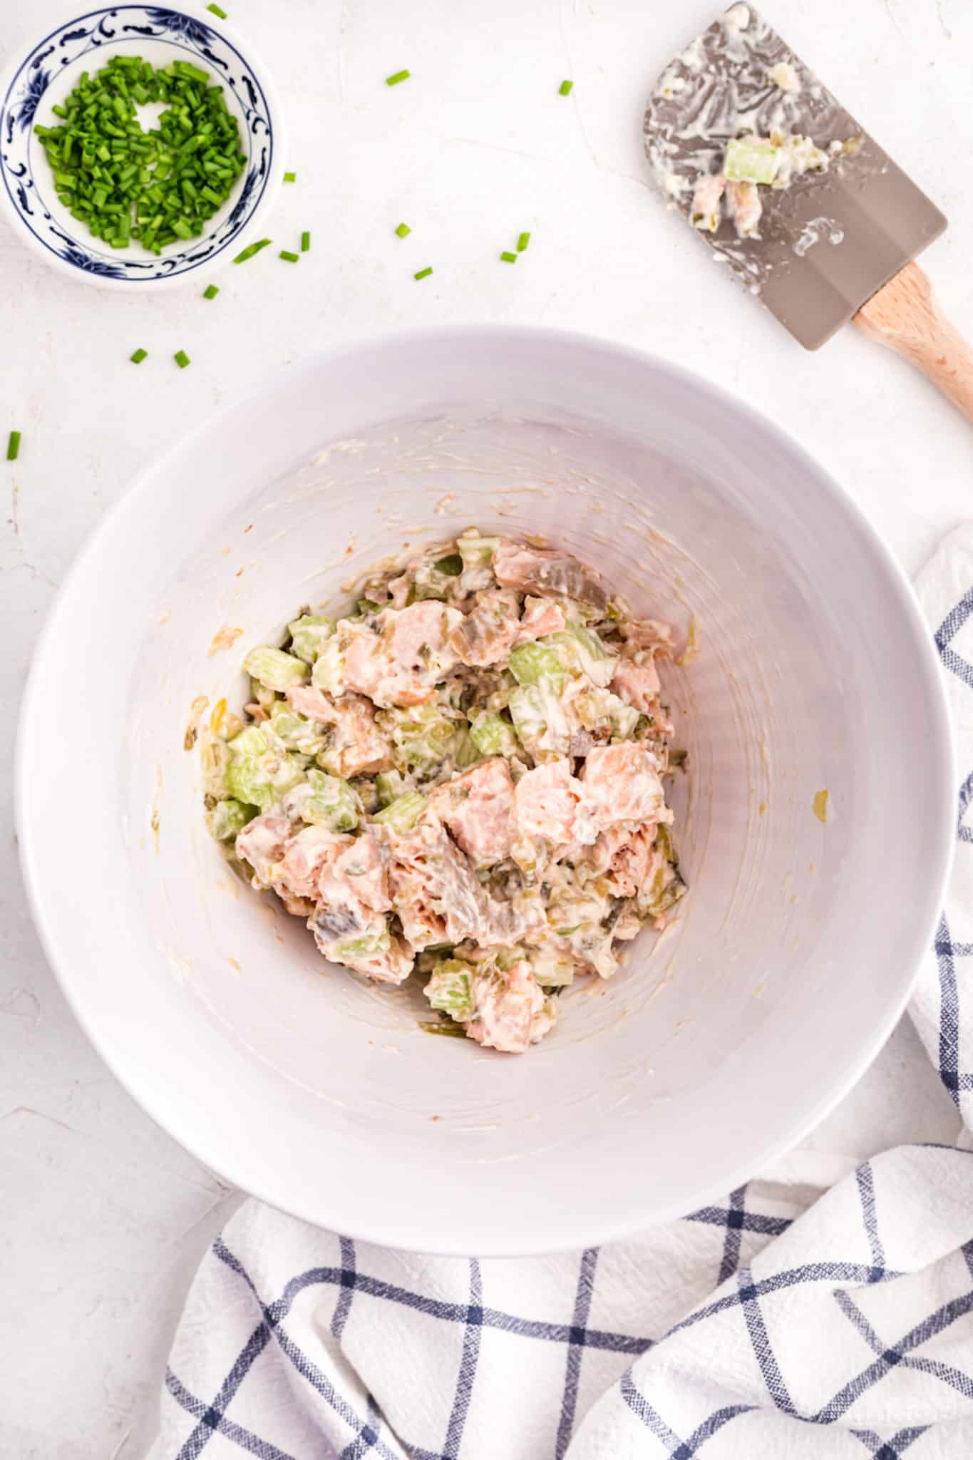
[[[801,345],[853,320],[973,420],[973,350],[913,263],[945,218],[753,6],[667,66],[645,149],[667,200]]]

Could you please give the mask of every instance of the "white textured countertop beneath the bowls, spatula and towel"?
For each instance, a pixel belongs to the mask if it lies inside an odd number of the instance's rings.
[[[855,495],[907,571],[973,511],[973,432],[850,328],[805,355],[732,288],[649,191],[640,117],[705,0],[223,0],[286,104],[289,166],[268,229],[312,229],[298,267],[267,250],[200,289],[117,298],[48,272],[0,228],[4,626],[1,755],[41,620],[133,474],[212,410],[311,352],[398,326],[544,321],[667,355],[744,396]],[[7,19],[26,6],[7,0]],[[32,0],[32,34],[70,16]],[[973,336],[967,0],[798,0],[770,19],[950,218],[923,263]],[[12,44],[3,28],[0,61]],[[384,77],[408,67],[413,80]],[[575,80],[569,99],[556,95]],[[401,219],[413,232],[392,237]],[[516,267],[497,260],[522,229]],[[422,283],[414,270],[432,264]],[[150,353],[128,364],[136,346]],[[177,349],[190,369],[171,364]],[[106,645],[106,653],[111,653]],[[66,750],[70,730],[66,721]],[[64,876],[83,777],[64,775]],[[238,1197],[131,1102],[54,984],[0,872],[0,1456],[136,1460],[200,1253]],[[133,969],[137,977],[137,969]],[[864,1158],[953,1140],[958,1121],[910,1026],[808,1143]]]

